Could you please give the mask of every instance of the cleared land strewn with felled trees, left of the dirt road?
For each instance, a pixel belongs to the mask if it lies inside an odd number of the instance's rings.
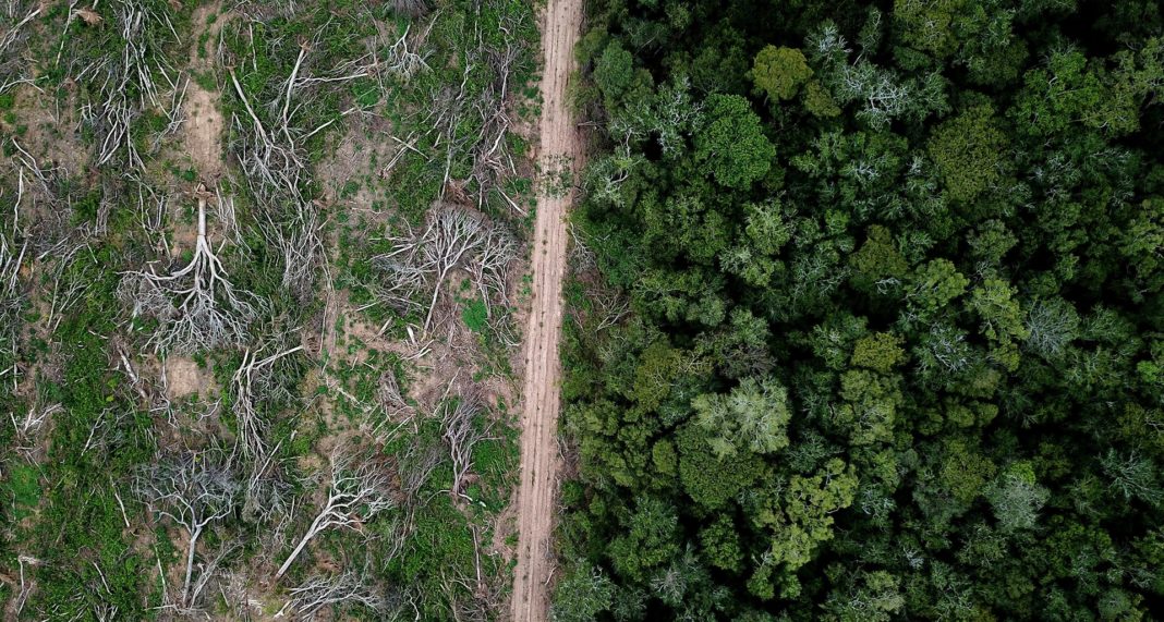
[[[505,617],[537,20],[0,3],[0,617]]]

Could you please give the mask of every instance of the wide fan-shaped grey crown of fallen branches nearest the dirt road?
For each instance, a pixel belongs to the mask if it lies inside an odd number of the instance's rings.
[[[375,288],[377,299],[403,315],[425,313],[424,330],[433,322],[433,310],[449,272],[463,269],[477,286],[485,312],[504,303],[509,265],[520,245],[504,227],[494,224],[480,212],[443,206],[428,213],[420,231],[405,226],[390,235],[391,251],[372,257],[371,264],[384,274]],[[427,294],[427,295],[425,295]],[[418,301],[425,295],[427,305]]]

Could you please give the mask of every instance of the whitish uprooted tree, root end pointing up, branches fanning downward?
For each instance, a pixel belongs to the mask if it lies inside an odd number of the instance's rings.
[[[206,199],[198,199],[198,239],[194,256],[170,274],[135,271],[122,274],[119,298],[133,306],[133,316],[162,322],[150,337],[154,350],[193,353],[222,345],[240,345],[258,316],[261,301],[236,291],[227,279],[218,251],[206,234]]]

